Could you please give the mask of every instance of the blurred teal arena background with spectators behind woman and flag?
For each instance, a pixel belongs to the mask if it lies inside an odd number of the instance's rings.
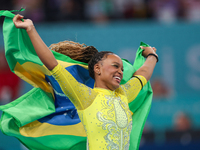
[[[134,62],[141,41],[157,48],[152,107],[140,150],[200,149],[199,0],[1,0],[34,21],[50,46],[64,40],[109,50]],[[3,18],[1,18],[1,28]],[[10,72],[0,30],[0,105],[32,89]],[[1,115],[0,111],[0,115]],[[12,143],[12,144],[10,144]],[[25,149],[0,132],[0,150]]]

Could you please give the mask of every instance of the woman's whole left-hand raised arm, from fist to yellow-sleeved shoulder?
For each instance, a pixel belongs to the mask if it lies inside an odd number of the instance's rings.
[[[43,64],[51,70],[53,77],[59,83],[64,94],[71,100],[77,109],[85,109],[90,106],[96,96],[96,92],[84,84],[79,83],[64,67],[58,64],[53,53],[49,50],[37,33],[33,22],[16,15],[13,22],[17,28],[27,31],[35,51]]]

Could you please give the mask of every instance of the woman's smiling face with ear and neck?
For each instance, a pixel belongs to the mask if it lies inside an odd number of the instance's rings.
[[[123,63],[119,56],[108,54],[94,66],[96,87],[116,90],[123,78]]]

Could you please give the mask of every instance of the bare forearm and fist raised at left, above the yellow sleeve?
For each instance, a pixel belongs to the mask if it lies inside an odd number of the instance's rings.
[[[23,16],[19,14],[13,18],[16,28],[23,28],[27,31],[38,57],[49,70],[52,70],[57,66],[57,60],[37,33],[33,22],[30,19],[24,19],[23,21],[22,19]]]

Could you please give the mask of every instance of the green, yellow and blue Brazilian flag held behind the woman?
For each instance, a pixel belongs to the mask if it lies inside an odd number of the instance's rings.
[[[0,120],[1,131],[5,135],[16,137],[31,150],[86,149],[86,133],[77,110],[38,58],[26,31],[14,26],[12,12],[0,11],[0,16],[5,16],[3,36],[6,59],[11,71],[34,88],[17,100],[0,106],[0,110],[3,111]],[[143,42],[140,45],[148,46]],[[52,52],[57,61],[77,81],[93,88],[94,80],[89,76],[86,63]],[[126,83],[144,62],[145,58],[140,48],[133,65],[123,59],[124,77],[121,84]],[[139,149],[152,95],[151,85],[148,82],[137,98],[129,104],[133,113],[130,150]]]

